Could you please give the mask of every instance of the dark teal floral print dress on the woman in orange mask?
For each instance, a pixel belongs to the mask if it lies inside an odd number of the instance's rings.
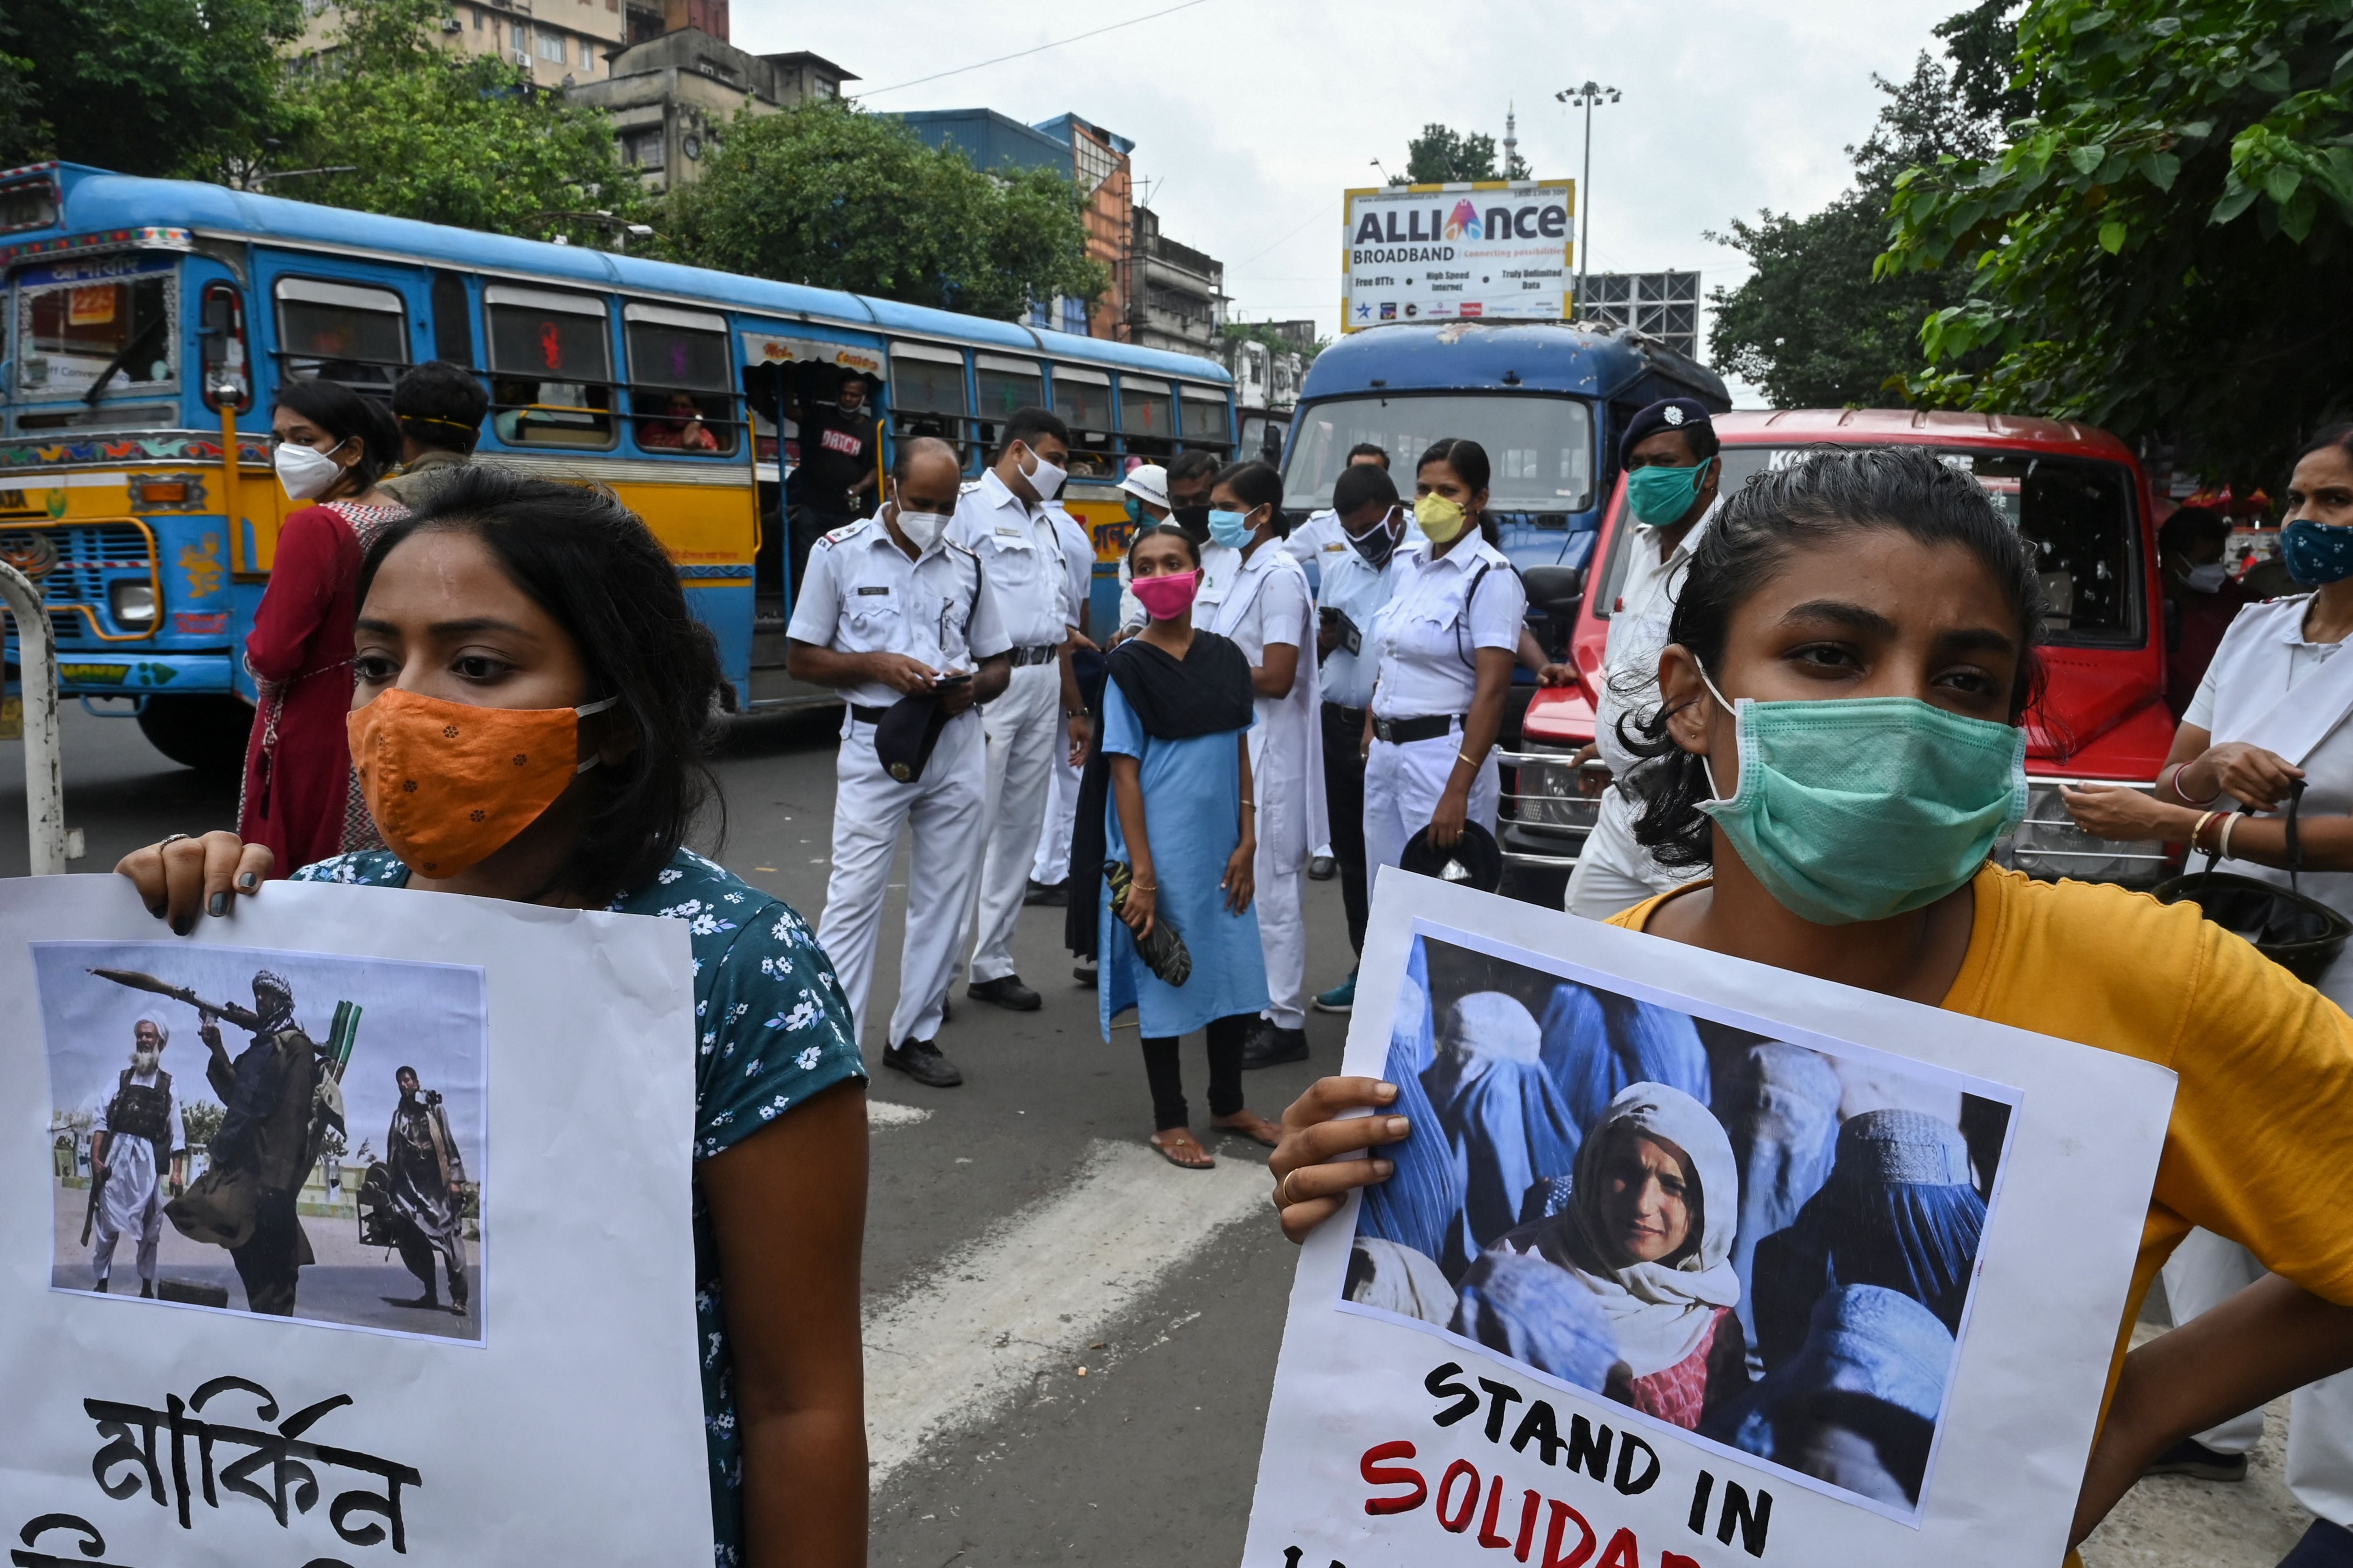
[[[388,851],[318,860],[294,882],[407,886],[409,867]],[[616,914],[687,922],[694,945],[694,1159],[732,1150],[762,1126],[866,1065],[849,1032],[849,999],[809,926],[772,893],[680,849],[654,882],[614,898]],[[720,1253],[694,1190],[694,1316],[704,1366],[704,1432],[711,1448],[713,1561],[744,1561],[744,1439],[736,1432],[734,1359],[720,1307]]]

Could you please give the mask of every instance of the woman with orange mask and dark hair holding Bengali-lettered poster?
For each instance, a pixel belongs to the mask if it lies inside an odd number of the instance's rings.
[[[391,851],[308,882],[685,919],[699,1016],[696,1314],[718,1561],[866,1561],[866,1070],[802,919],[685,849],[713,799],[711,632],[654,536],[569,484],[468,468],[360,569],[351,755]],[[273,870],[231,832],[122,858],[188,933]],[[767,1117],[767,1107],[791,1105]]]

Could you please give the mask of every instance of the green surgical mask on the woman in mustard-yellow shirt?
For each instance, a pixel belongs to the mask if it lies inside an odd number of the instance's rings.
[[[1708,693],[1739,722],[1741,776],[1701,811],[1765,891],[1817,926],[1937,903],[2026,818],[2014,724],[1911,696],[1732,705],[1713,679]],[[1720,795],[1713,769],[1708,790]]]

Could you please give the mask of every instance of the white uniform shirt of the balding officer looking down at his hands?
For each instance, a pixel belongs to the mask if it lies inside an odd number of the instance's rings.
[[[786,637],[835,654],[906,654],[941,675],[972,670],[1012,646],[974,552],[936,538],[908,559],[880,515],[816,541]],[[842,686],[842,698],[889,708],[899,691],[859,682]]]

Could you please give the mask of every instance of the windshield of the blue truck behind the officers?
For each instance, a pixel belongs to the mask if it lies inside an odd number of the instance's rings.
[[[1282,505],[1308,512],[1332,505],[1332,482],[1358,442],[1384,449],[1398,491],[1412,496],[1414,461],[1445,437],[1471,437],[1487,449],[1487,508],[1494,512],[1581,512],[1593,505],[1591,407],[1574,397],[1515,393],[1311,402],[1292,425]]]

